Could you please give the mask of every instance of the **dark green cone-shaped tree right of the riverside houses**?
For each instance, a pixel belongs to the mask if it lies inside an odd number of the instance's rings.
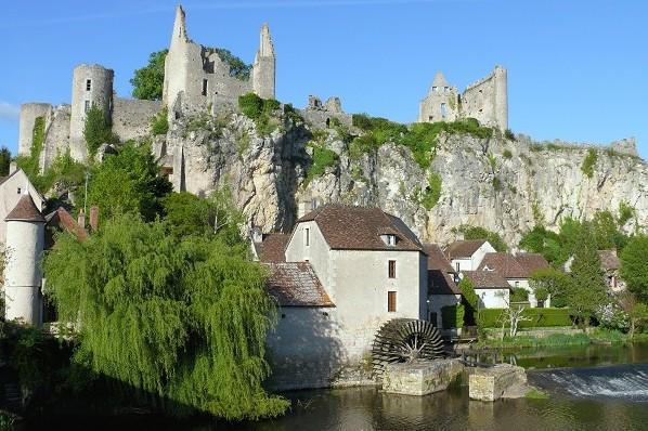
[[[583,228],[580,235],[580,246],[573,256],[567,287],[567,304],[581,324],[587,326],[589,318],[607,301],[607,286],[600,269],[600,258],[592,230],[588,227]]]

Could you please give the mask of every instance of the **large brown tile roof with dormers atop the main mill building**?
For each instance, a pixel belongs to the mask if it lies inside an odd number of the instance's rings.
[[[317,223],[332,249],[423,251],[423,245],[405,223],[379,208],[326,205],[309,212],[297,223],[306,221]],[[394,247],[380,239],[380,235],[386,234],[397,236]]]

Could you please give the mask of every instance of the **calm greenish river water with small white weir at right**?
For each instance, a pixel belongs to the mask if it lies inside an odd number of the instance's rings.
[[[375,389],[286,394],[285,417],[256,423],[169,422],[151,417],[66,422],[66,429],[119,430],[648,430],[648,345],[580,347],[506,355],[530,369],[529,380],[549,400],[468,400],[467,388],[428,396]],[[54,428],[49,421],[33,429]]]

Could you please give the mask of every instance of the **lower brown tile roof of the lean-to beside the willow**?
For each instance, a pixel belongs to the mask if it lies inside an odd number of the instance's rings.
[[[281,306],[335,306],[309,262],[265,263],[268,292]]]

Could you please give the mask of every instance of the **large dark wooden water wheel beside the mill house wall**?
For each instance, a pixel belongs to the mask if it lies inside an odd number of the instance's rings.
[[[427,321],[393,318],[385,323],[374,339],[372,364],[381,379],[385,366],[393,363],[431,361],[444,356],[439,330]]]

